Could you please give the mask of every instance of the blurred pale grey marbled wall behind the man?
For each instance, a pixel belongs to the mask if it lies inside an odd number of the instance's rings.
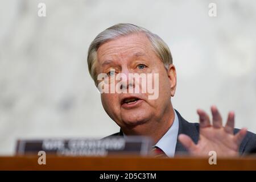
[[[46,17],[38,16],[38,3]],[[217,16],[208,15],[216,3]],[[256,1],[0,1],[0,155],[19,138],[101,138],[118,126],[101,106],[86,56],[95,36],[134,23],[170,46],[175,109],[198,122],[215,104],[256,132]]]

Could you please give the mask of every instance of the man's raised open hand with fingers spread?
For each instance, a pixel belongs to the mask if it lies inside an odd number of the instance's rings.
[[[237,156],[246,129],[240,130],[236,135],[234,130],[234,113],[230,112],[226,126],[222,126],[222,118],[215,106],[212,106],[213,125],[203,110],[197,110],[200,118],[200,138],[197,144],[184,134],[179,135],[180,142],[192,155],[208,156],[210,151],[215,151],[218,156]]]

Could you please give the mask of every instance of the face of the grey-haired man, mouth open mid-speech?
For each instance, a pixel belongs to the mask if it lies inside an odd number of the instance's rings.
[[[147,123],[152,125],[153,122],[158,122],[164,113],[170,111],[170,98],[174,96],[176,88],[175,67],[170,65],[167,71],[146,35],[132,34],[106,42],[98,48],[97,59],[98,74],[110,75],[110,69],[114,69],[115,74],[127,75],[127,78],[129,73],[159,74],[159,96],[155,100],[148,99],[148,92],[101,94],[106,113],[123,131],[128,128],[139,130],[139,127]],[[126,85],[125,89],[126,87],[128,89],[129,85]]]

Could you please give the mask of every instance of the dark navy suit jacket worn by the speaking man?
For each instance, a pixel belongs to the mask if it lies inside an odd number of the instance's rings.
[[[185,121],[183,117],[181,117],[180,113],[176,111],[177,116],[179,118],[179,134],[186,134],[193,142],[197,143],[199,140],[199,123],[189,123]],[[234,129],[234,134],[236,134],[239,129]],[[110,135],[109,137],[113,136],[123,136],[122,130],[120,130],[118,133],[115,133],[113,135]],[[106,137],[108,138],[108,137]],[[177,154],[186,154],[188,151],[185,149],[185,147],[179,142],[177,139],[176,143],[176,149],[175,149],[175,155]],[[247,131],[246,137],[243,139],[239,152],[241,155],[246,154],[256,154],[256,134],[251,133],[250,131]]]

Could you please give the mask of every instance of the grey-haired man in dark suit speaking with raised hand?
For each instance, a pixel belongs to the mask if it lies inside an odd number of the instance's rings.
[[[90,44],[88,68],[96,86],[126,92],[101,92],[102,105],[121,131],[113,135],[146,135],[154,146],[167,156],[179,152],[206,156],[215,151],[218,156],[237,156],[256,150],[256,135],[246,129],[234,129],[234,113],[228,114],[225,127],[216,106],[211,107],[212,124],[207,113],[197,110],[199,123],[189,123],[174,110],[171,97],[176,89],[176,70],[167,44],[159,36],[133,24],[116,24],[102,31]],[[158,80],[158,97],[150,93],[131,93],[130,88],[141,82],[132,82],[129,74],[154,74]],[[100,74],[105,75],[102,86]],[[122,78],[116,79],[117,74]],[[129,78],[129,79],[128,79]],[[106,81],[107,80],[107,81]],[[99,86],[101,85],[101,86]],[[101,90],[102,91],[102,90]],[[118,91],[118,90],[115,90]],[[112,135],[112,136],[113,136]]]

